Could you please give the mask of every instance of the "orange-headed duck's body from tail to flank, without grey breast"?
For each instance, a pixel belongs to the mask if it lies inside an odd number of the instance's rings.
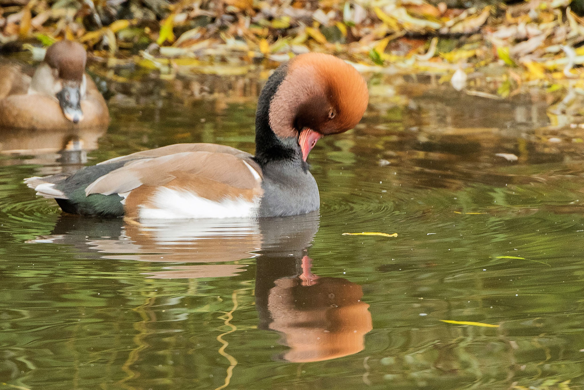
[[[159,149],[140,153],[84,168],[65,179],[33,177],[26,183],[41,196],[57,199],[63,210],[77,214],[251,217],[259,207],[262,171],[244,152],[240,152],[243,156],[210,151],[164,154]]]

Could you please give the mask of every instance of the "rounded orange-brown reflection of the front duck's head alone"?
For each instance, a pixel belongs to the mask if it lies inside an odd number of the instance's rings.
[[[298,278],[280,278],[270,290],[270,329],[283,333],[288,361],[321,361],[363,350],[372,329],[363,290],[343,278],[319,278],[303,286]]]

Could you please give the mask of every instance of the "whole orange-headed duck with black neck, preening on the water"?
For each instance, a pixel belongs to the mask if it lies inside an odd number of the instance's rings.
[[[310,213],[320,200],[308,153],[324,135],[359,123],[367,102],[367,85],[351,65],[302,54],[280,65],[260,93],[255,156],[223,145],[176,144],[25,183],[72,214],[140,220]]]

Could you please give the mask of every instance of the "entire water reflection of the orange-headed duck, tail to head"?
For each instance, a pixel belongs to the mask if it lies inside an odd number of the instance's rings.
[[[256,259],[255,301],[259,329],[276,330],[289,350],[279,358],[321,361],[363,350],[372,329],[361,286],[345,278],[319,277],[307,256],[318,231],[316,213],[265,220],[150,221],[124,224],[62,215],[50,236],[35,242],[69,243],[84,257],[172,262],[148,278],[235,276]],[[200,264],[188,264],[200,263]],[[207,263],[207,264],[204,264]]]

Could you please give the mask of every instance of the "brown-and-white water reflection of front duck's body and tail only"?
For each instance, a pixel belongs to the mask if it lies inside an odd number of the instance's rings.
[[[175,263],[162,266],[160,271],[142,273],[147,278],[171,279],[235,276],[245,271],[245,264],[189,263],[257,257],[261,235],[252,220],[154,220],[135,224],[117,218],[62,214],[51,235],[33,241],[70,244],[84,258]]]

